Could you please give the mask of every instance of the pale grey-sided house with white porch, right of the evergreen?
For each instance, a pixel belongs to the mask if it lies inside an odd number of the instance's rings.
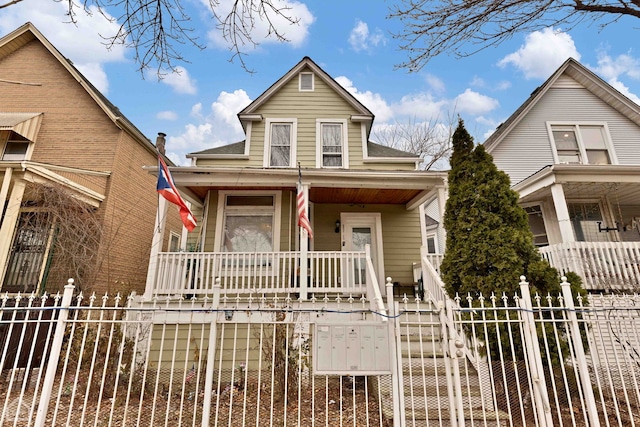
[[[640,106],[568,59],[484,143],[553,266],[640,285]]]

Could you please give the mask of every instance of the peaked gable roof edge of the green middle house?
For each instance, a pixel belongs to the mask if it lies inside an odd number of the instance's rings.
[[[271,96],[276,93],[280,88],[289,83],[291,79],[296,77],[300,71],[305,68],[309,68],[314,74],[322,79],[329,87],[331,87],[338,95],[344,98],[351,106],[358,111],[359,115],[368,116],[371,121],[373,121],[373,113],[369,111],[367,107],[362,105],[360,101],[358,101],[353,95],[351,95],[345,88],[340,86],[338,82],[336,82],[329,74],[326,73],[318,64],[313,62],[311,58],[305,56],[302,58],[300,62],[298,62],[292,69],[290,69],[284,76],[280,77],[278,81],[272,84],[267,90],[265,90],[262,95],[257,97],[251,104],[245,107],[240,113],[238,113],[238,117],[242,119],[242,116],[245,114],[255,113],[256,110],[264,104]]]

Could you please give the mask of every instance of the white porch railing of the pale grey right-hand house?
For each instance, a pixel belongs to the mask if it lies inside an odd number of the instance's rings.
[[[573,271],[588,290],[636,291],[640,286],[640,242],[568,242],[540,248],[563,274]]]

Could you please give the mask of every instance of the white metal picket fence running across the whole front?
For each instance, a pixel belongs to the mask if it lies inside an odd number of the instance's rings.
[[[522,281],[520,295],[389,298],[387,313],[341,294],[5,296],[0,425],[640,424],[640,297],[568,292],[531,298]],[[322,355],[319,324],[344,332]],[[358,325],[388,335],[355,348]],[[378,353],[371,372],[349,356]],[[351,371],[319,375],[320,357]]]

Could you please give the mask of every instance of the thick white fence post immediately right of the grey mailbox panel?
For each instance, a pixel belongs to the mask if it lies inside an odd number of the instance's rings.
[[[391,390],[393,400],[393,427],[401,427],[404,422],[404,386],[402,380],[402,346],[398,331],[398,310],[393,300],[393,282],[387,277],[387,304],[389,305],[389,355],[391,356]]]

